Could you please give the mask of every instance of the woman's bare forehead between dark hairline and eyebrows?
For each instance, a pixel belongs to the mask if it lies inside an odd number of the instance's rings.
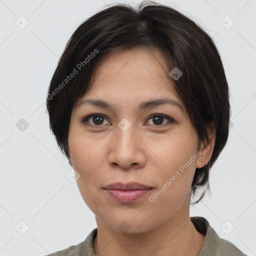
[[[162,97],[180,101],[168,73],[162,53],[157,49],[137,47],[108,53],[98,62],[92,86],[77,104],[92,97],[123,100],[127,104]]]

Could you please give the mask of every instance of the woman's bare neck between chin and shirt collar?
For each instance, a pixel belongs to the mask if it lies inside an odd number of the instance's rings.
[[[96,222],[97,235],[93,250],[99,256],[197,256],[205,238],[191,222],[189,209],[188,214],[177,212],[161,225],[140,233],[122,233],[110,228],[97,217]]]

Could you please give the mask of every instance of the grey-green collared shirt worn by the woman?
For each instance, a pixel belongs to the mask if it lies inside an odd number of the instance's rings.
[[[220,238],[209,222],[203,217],[190,217],[196,230],[205,235],[202,248],[198,256],[247,256],[231,242]],[[86,239],[77,245],[71,245],[66,249],[56,251],[51,256],[94,256],[93,240],[97,235],[94,228]]]

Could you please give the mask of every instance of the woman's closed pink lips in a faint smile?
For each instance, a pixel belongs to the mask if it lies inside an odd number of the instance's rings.
[[[129,182],[126,184],[117,182],[103,188],[113,199],[119,202],[133,202],[152,189],[150,186],[137,182]]]

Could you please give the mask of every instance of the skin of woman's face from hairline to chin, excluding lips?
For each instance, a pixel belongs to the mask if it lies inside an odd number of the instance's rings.
[[[77,101],[103,100],[110,108],[84,102],[71,114],[68,150],[79,191],[97,224],[115,230],[143,232],[187,217],[194,171],[202,167],[197,133],[165,75],[170,70],[157,56],[146,48],[112,53],[98,67],[91,90]],[[183,111],[177,103],[140,108],[162,98],[178,102]],[[90,114],[94,118],[82,122]],[[118,201],[104,189],[115,182],[151,189],[134,201]]]

